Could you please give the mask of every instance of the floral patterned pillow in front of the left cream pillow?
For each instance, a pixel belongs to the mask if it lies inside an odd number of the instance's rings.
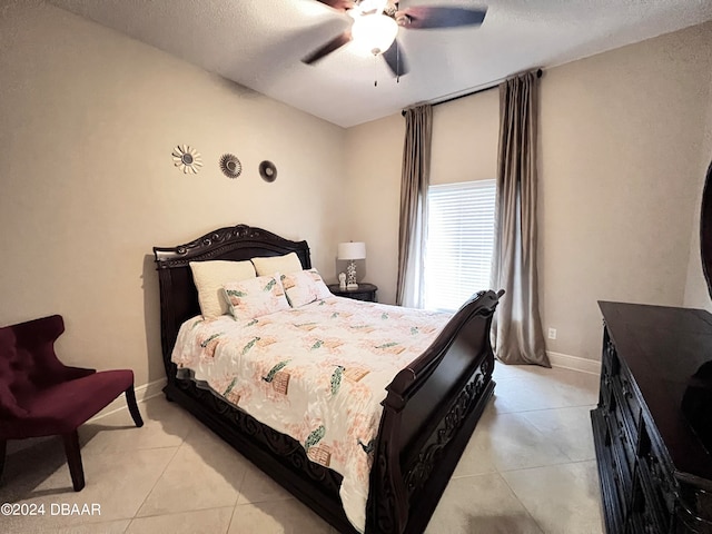
[[[222,291],[235,320],[249,320],[261,315],[289,309],[285,290],[275,276],[226,284]]]

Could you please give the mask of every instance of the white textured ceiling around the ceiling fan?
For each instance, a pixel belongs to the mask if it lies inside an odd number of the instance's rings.
[[[316,0],[48,1],[343,127],[712,19],[712,0],[402,0],[488,11],[481,28],[400,29],[396,82],[350,44],[300,62],[348,26]]]

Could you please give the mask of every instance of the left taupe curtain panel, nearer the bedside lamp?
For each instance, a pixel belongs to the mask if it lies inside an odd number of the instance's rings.
[[[429,105],[405,110],[396,304],[414,308],[423,307],[432,125],[433,108]]]

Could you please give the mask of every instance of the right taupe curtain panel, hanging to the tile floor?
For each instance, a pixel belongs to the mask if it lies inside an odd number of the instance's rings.
[[[492,287],[506,293],[493,323],[505,364],[551,367],[544,349],[536,275],[537,85],[534,72],[500,86],[500,150]]]

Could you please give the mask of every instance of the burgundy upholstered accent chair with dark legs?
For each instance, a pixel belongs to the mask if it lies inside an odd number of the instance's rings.
[[[8,439],[60,435],[76,492],[85,487],[77,428],[126,394],[136,426],[134,372],[63,365],[55,340],[65,332],[60,315],[0,328],[0,476]]]

